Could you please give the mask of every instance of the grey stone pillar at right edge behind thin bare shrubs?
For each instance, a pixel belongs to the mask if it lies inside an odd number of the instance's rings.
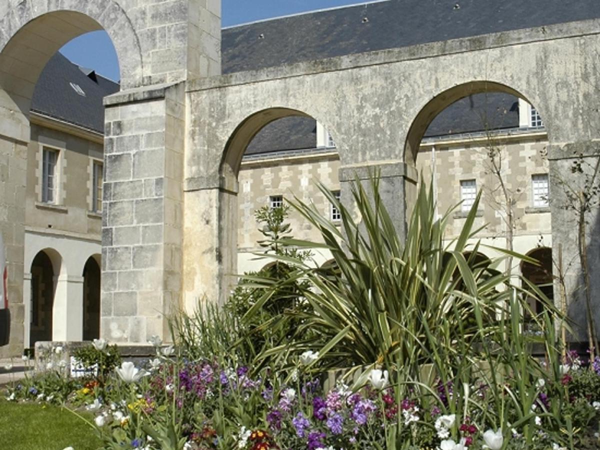
[[[572,172],[574,163],[584,161],[581,165],[583,173]],[[581,271],[577,229],[578,214],[572,208],[574,204],[568,199],[567,192],[577,193],[588,191],[586,179],[590,180],[596,161],[600,157],[600,142],[577,142],[562,145],[551,145],[548,151],[550,165],[550,208],[552,220],[552,256],[554,259],[554,275],[559,276],[559,248],[563,254],[563,277],[565,279],[566,296],[569,302],[568,315],[572,320],[573,335],[570,341],[587,345],[587,310],[584,290],[583,272]],[[600,175],[597,176],[595,186],[600,184]],[[596,194],[596,203],[598,195]],[[596,326],[596,334],[600,334],[600,211],[598,206],[593,206],[586,214],[587,220],[587,260],[590,269],[590,289],[592,292],[592,313]],[[560,289],[556,282],[554,286],[554,299],[560,307]]]

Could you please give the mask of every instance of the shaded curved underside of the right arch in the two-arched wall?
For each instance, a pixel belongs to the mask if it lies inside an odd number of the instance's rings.
[[[403,150],[403,158],[405,163],[412,166],[415,165],[416,157],[419,152],[419,146],[421,145],[421,140],[425,135],[425,131],[427,131],[427,128],[433,119],[436,118],[440,112],[461,98],[468,97],[469,95],[473,94],[482,94],[484,92],[504,92],[505,94],[511,94],[515,97],[523,98],[523,100],[529,101],[527,100],[527,97],[521,94],[521,92],[518,92],[516,89],[513,89],[510,86],[506,86],[502,83],[487,80],[461,83],[460,85],[446,89],[421,107],[415,119],[413,119],[412,123],[410,124]],[[531,102],[529,101],[529,103]],[[543,112],[541,112],[541,115],[543,116]]]

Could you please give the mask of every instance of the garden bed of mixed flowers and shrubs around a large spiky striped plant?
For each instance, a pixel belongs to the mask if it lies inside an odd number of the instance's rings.
[[[285,209],[259,212],[274,264],[245,275],[224,307],[204,301],[192,316],[176,314],[175,345],[152,338],[155,358],[71,381],[50,401],[94,413],[83,419],[109,449],[600,446],[600,359],[562,357],[559,311],[501,269],[526,257],[475,257],[479,199],[448,243],[452,212],[436,217],[431,188],[419,188],[404,238],[377,176],[352,184],[352,208],[322,191],[341,229],[298,199],[293,211],[322,242],[290,237]],[[316,268],[316,247],[334,263]],[[40,380],[7,397],[48,401]]]

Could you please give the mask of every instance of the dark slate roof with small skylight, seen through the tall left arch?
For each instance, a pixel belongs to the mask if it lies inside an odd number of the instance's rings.
[[[98,74],[94,75],[86,75],[77,65],[56,52],[35,85],[31,110],[104,133],[102,100],[106,95],[118,91],[119,85]]]

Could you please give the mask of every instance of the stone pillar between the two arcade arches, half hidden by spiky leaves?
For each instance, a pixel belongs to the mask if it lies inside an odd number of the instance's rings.
[[[340,167],[341,198],[352,210],[352,191],[350,185],[359,179],[362,185],[370,190],[370,176],[379,172],[379,195],[388,210],[389,217],[394,222],[399,236],[406,236],[406,221],[412,211],[415,186],[416,169],[406,163],[381,163],[364,166]]]

